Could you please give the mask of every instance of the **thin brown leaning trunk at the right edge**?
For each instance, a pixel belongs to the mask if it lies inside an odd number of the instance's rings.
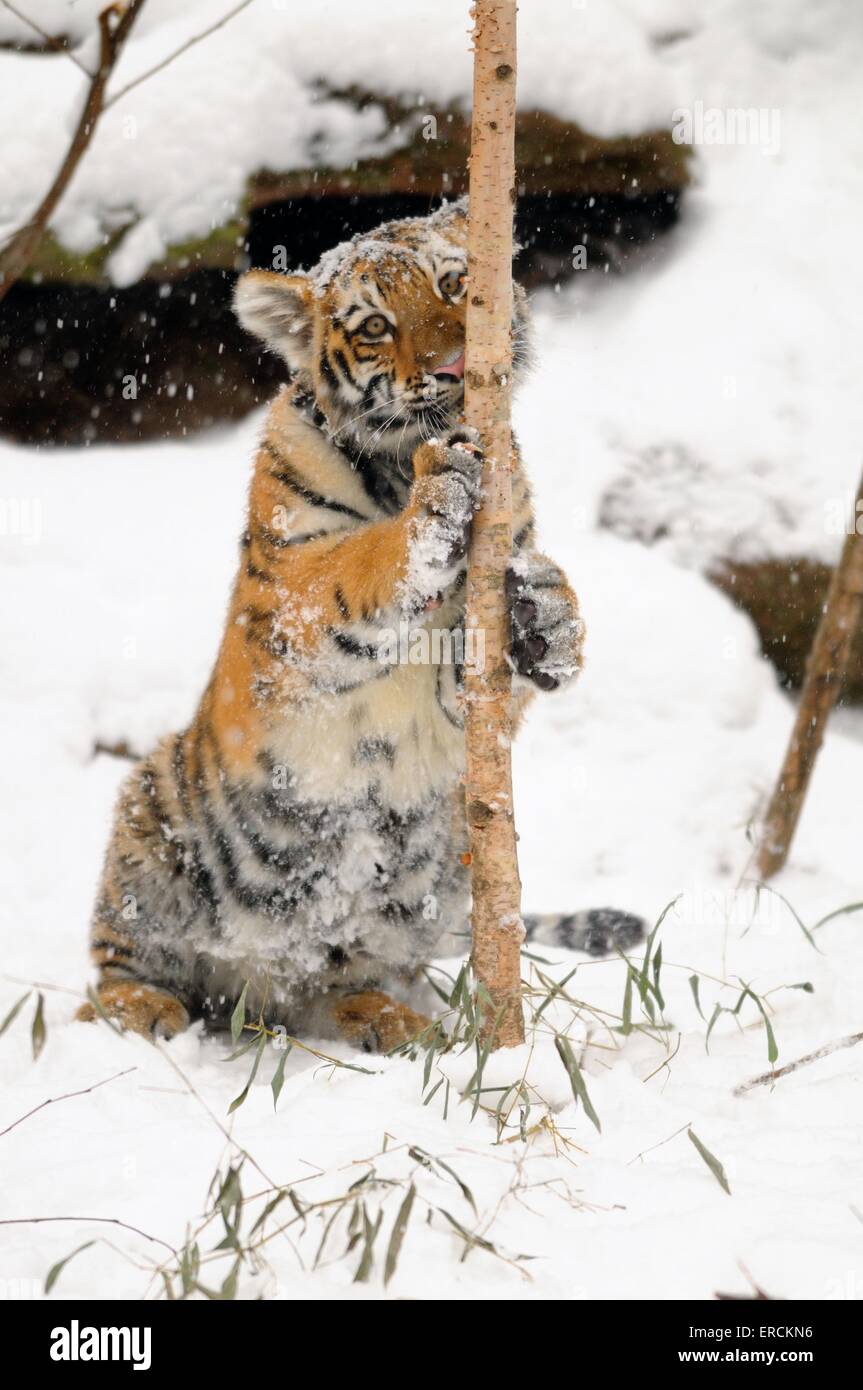
[[[764,816],[757,852],[757,872],[762,878],[770,878],[788,859],[809,778],[860,626],[863,535],[857,531],[859,524],[863,525],[863,478],[857,489],[852,528],[845,538],[842,556],[806,662],[806,677],[785,762]]]

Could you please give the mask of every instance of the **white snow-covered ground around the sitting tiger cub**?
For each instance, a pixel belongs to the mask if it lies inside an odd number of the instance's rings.
[[[663,8],[668,21],[673,11],[692,18],[687,4]],[[716,26],[738,40],[720,49],[709,82],[707,38],[696,33],[681,76],[693,99],[739,103],[748,83],[746,104],[769,106],[769,79],[781,78],[788,143],[777,157],[705,149],[684,224],[652,265],[620,281],[577,277],[560,295],[539,296],[541,368],[517,420],[542,543],[568,570],[589,626],[575,691],[538,699],[517,745],[524,903],[617,903],[656,920],[682,895],[657,938],[667,1031],[614,1031],[623,962],[543,951],[554,962],[539,963],[546,977],[563,980],[577,966],[566,990],[581,1004],[554,1004],[528,1048],[489,1062],[485,1086],[524,1077],[531,1097],[527,1140],[516,1106],[498,1143],[493,1115],[471,1120],[471,1105],[459,1104],[471,1056],[432,1072],[429,1088],[443,1074],[450,1081],[445,1118],[445,1083],[422,1104],[421,1062],[340,1048],[367,1073],[332,1070],[297,1048],[274,1112],[279,1054],[267,1048],[249,1098],[228,1116],[252,1054],[228,1062],[229,1045],[200,1029],[153,1048],[104,1024],[72,1023],[126,766],[93,749],[120,739],[145,749],[192,713],[218,641],[260,417],[188,443],[0,446],[0,1017],[40,981],[47,1029],[33,1063],[31,995],[0,1038],[0,1223],[24,1222],[0,1225],[0,1293],[40,1295],[51,1265],[88,1241],[96,1243],[63,1270],[56,1295],[164,1293],[154,1268],[174,1255],[160,1243],[183,1245],[208,1211],[215,1169],[224,1177],[239,1144],[250,1198],[240,1236],[268,1200],[254,1194],[275,1186],[292,1186],[300,1209],[331,1204],[303,1222],[290,1200],[281,1202],[257,1232],[275,1233],[260,1250],[267,1264],[242,1268],[239,1297],[710,1298],[750,1291],[748,1276],[777,1298],[863,1294],[863,1048],[735,1095],[769,1070],[757,1002],[746,998],[737,1019],[720,1015],[705,1045],[714,1005],[734,1008],[741,981],[770,1017],[780,1066],[863,1027],[863,915],[835,917],[814,947],[795,916],[812,927],[863,899],[863,719],[844,712],[827,738],[792,863],[775,881],[785,901],[756,902],[741,887],[746,827],[775,776],[791,703],[749,621],[691,567],[691,555],[646,549],[595,524],[627,450],[681,443],[718,460],[723,485],[706,514],[723,543],[745,530],[728,517],[746,520],[749,507],[762,516],[764,498],[788,495],[792,528],[820,538],[827,556],[838,549],[820,521],[859,466],[860,349],[850,346],[859,271],[820,199],[830,186],[848,218],[859,218],[859,136],[839,120],[850,100],[841,76],[853,19],[844,42],[828,42],[832,4],[819,7],[821,28],[812,29],[809,7],[749,11],[717,6]],[[791,51],[767,60],[780,13],[795,17],[782,28]],[[792,245],[800,225],[805,256]],[[812,991],[794,988],[805,983]],[[632,1020],[643,1022],[638,997]],[[552,1024],[570,1031],[600,1133],[573,1099]],[[47,1098],[103,1081],[15,1123]],[[500,1094],[484,1094],[492,1111]],[[689,1127],[721,1162],[731,1194]],[[411,1182],[416,1200],[385,1287],[385,1251]],[[345,1247],[363,1198],[372,1226],[384,1215],[370,1277],[354,1283],[365,1241],[347,1255]],[[56,1220],[26,1223],[33,1216]],[[463,1261],[453,1219],[495,1250],[474,1245]],[[211,1220],[202,1252],[222,1234],[221,1218]],[[207,1262],[202,1283],[218,1289],[232,1261],[228,1251]]]

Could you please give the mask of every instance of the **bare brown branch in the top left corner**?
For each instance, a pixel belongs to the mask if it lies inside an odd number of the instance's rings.
[[[126,4],[117,3],[108,6],[99,15],[99,65],[90,78],[90,86],[81,117],[78,118],[78,125],[75,126],[75,133],[69,140],[69,147],[65,152],[63,164],[57,170],[54,182],[29,221],[13,234],[0,252],[0,300],[8,293],[33,259],[54,210],[93,139],[99,117],[104,110],[104,93],[108,78],[114,71],[122,46],[145,0],[128,0]]]

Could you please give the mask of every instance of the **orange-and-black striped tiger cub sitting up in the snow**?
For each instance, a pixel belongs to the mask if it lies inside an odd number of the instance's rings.
[[[388,1049],[425,1023],[389,991],[467,929],[460,684],[482,459],[459,424],[466,235],[449,204],[309,272],[238,282],[240,322],[290,384],[257,450],[210,684],[120,795],[92,956],[100,1008],[129,1029],[221,1022],[249,981],[247,1006],[292,1031]],[[527,327],[517,291],[516,379]],[[513,509],[517,714],[573,680],[584,628],[534,549],[517,450]],[[599,951],[641,934],[625,913],[545,926]]]

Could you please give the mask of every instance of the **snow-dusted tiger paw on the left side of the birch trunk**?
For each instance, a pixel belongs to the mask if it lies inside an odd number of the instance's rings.
[[[416,516],[404,588],[414,607],[428,605],[464,567],[471,521],[479,507],[482,450],[475,430],[461,425],[414,455]]]

